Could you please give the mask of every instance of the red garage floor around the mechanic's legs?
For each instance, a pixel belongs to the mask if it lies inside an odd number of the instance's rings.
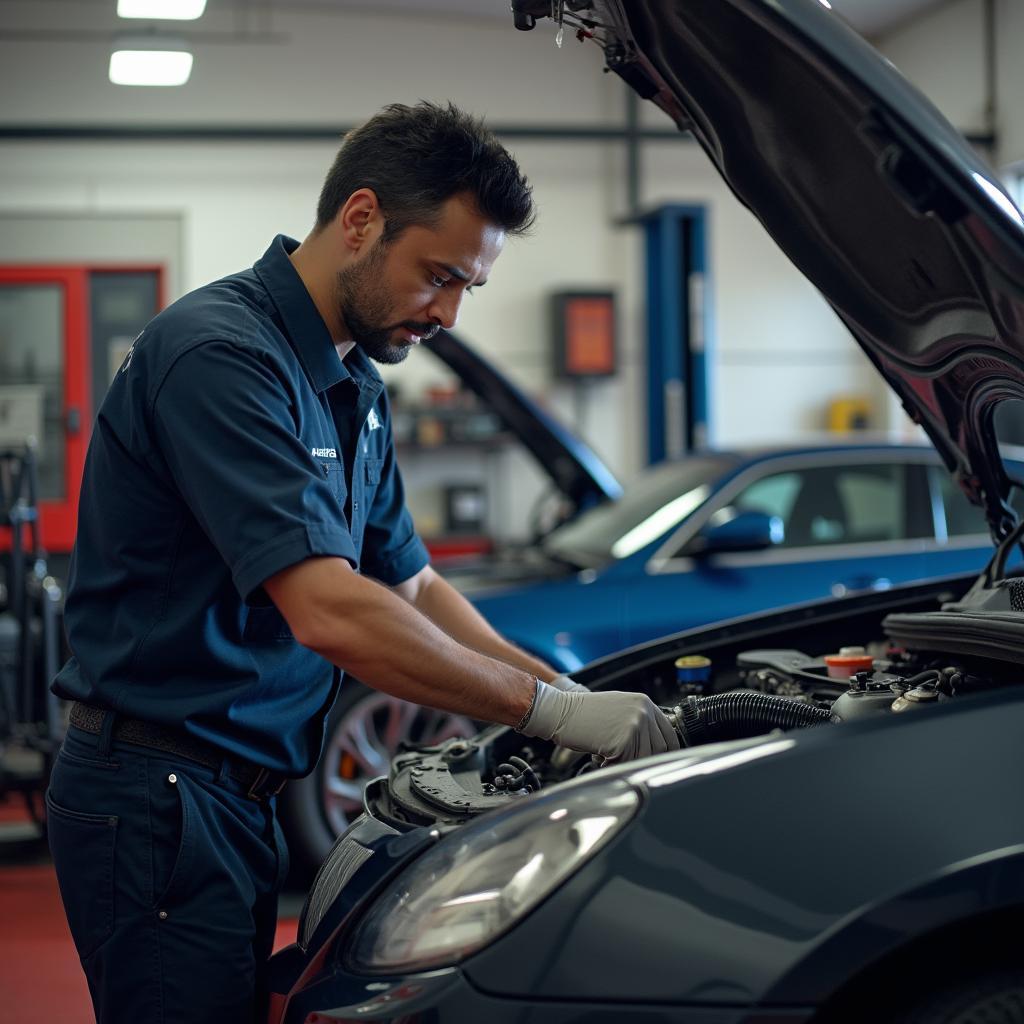
[[[20,815],[0,803],[3,825]],[[92,1024],[85,976],[68,932],[56,878],[40,854],[0,860],[0,1019],[10,1024]],[[295,941],[283,920],[276,947]]]

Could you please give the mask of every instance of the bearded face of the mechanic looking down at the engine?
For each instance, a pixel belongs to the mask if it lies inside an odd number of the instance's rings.
[[[459,318],[463,295],[479,288],[505,232],[456,197],[432,227],[414,224],[377,241],[338,271],[335,303],[352,341],[378,362],[401,362],[413,345]]]

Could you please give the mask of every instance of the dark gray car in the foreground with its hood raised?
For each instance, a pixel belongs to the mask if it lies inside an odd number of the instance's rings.
[[[554,6],[833,304],[994,553],[577,674],[649,693],[676,753],[599,768],[507,728],[400,753],[273,961],[271,1020],[1020,1022],[1024,524],[994,420],[1024,397],[1021,216],[818,0]]]

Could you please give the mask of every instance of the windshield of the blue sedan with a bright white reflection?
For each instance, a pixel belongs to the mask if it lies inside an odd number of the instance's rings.
[[[694,456],[647,470],[615,502],[584,512],[551,531],[544,551],[581,568],[626,558],[683,521],[736,464],[727,456]]]

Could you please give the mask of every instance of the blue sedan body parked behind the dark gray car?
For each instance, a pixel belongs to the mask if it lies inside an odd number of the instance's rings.
[[[662,465],[538,547],[545,578],[474,603],[572,672],[681,629],[968,571],[991,538],[934,449],[858,444]]]

